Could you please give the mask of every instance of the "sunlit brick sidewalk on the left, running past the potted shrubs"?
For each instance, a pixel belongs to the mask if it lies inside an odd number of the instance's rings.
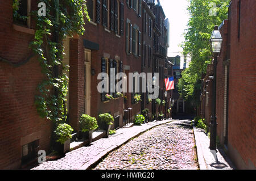
[[[133,137],[146,132],[148,129],[174,120],[153,121],[141,126],[131,128],[120,128],[108,138],[92,142],[90,146],[83,146],[79,149],[69,151],[65,157],[56,161],[47,161],[32,168],[32,170],[86,170],[96,165],[111,151],[119,148]]]

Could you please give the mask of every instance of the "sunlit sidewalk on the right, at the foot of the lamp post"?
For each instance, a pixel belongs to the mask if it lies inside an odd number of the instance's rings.
[[[217,163],[214,155],[210,152],[210,139],[204,133],[204,129],[193,126],[196,140],[197,158],[200,170],[233,170],[233,163],[230,161],[224,150],[217,148]]]

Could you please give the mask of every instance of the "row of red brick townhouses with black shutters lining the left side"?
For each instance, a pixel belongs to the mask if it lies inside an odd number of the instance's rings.
[[[37,1],[23,0],[24,12],[38,9]],[[97,90],[102,77],[123,72],[159,72],[160,96],[163,98],[164,81],[171,71],[166,64],[168,27],[160,3],[154,5],[131,0],[88,0],[90,22],[85,24],[83,36],[67,37],[63,41],[63,62],[70,66],[67,123],[79,131],[79,118],[86,113],[98,118],[100,113],[114,117],[112,129],[123,127],[127,121],[149,108],[147,94],[123,92],[124,101],[117,91],[100,93]],[[148,6],[149,5],[149,6]],[[28,48],[34,39],[35,22],[14,22],[12,1],[1,0],[0,11],[0,169],[18,169],[28,155],[36,157],[37,150],[50,150],[52,124],[40,118],[34,97],[36,87],[43,79],[39,62]],[[27,15],[26,13],[24,15]],[[113,71],[110,71],[114,69]],[[117,81],[108,82],[113,90]],[[134,89],[136,86],[134,85]],[[106,94],[114,97],[106,99]],[[134,95],[141,94],[142,102],[135,103]],[[168,97],[171,92],[168,92]],[[28,151],[30,150],[30,151]]]

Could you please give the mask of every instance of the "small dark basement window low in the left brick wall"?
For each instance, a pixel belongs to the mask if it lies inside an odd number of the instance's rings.
[[[22,146],[22,164],[28,163],[38,156],[39,140]]]

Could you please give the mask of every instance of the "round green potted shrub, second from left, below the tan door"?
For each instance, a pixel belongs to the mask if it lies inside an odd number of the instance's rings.
[[[96,118],[85,114],[80,117],[79,124],[82,132],[92,131],[98,128]]]

